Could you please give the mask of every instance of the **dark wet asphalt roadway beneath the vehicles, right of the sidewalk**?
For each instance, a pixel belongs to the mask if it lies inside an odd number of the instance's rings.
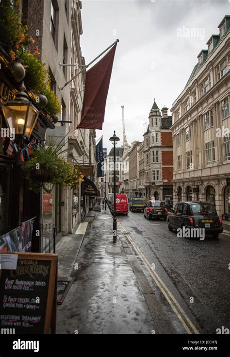
[[[186,322],[188,316],[199,333],[216,333],[217,328],[230,325],[230,235],[223,233],[217,239],[207,236],[204,240],[178,238],[175,231],[169,232],[166,221],[148,221],[140,212],[120,215],[117,222],[118,230],[131,238],[160,277],[170,300],[173,301],[172,296],[175,298],[173,306],[182,320]],[[142,265],[156,287],[149,271]],[[174,326],[184,333],[177,313],[173,313],[161,289],[157,290]],[[185,313],[181,313],[180,307]],[[188,325],[194,333],[190,323]]]

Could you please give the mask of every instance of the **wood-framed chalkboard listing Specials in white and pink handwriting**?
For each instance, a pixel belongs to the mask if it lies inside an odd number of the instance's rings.
[[[0,270],[0,328],[16,334],[55,333],[57,255],[14,254],[16,269]]]

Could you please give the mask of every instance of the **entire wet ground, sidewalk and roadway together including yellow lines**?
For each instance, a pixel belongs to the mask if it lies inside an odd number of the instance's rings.
[[[216,333],[230,328],[230,236],[178,238],[143,213],[97,213],[57,309],[57,333]],[[72,267],[65,255],[62,266]],[[75,267],[76,268],[76,267]]]

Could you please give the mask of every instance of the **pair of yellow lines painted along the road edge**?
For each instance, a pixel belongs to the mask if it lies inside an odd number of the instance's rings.
[[[167,302],[169,303],[169,305],[175,312],[176,316],[180,320],[180,322],[181,322],[182,326],[184,327],[184,329],[186,330],[186,332],[188,334],[193,334],[193,333],[199,334],[199,331],[197,330],[195,325],[192,323],[192,321],[189,319],[189,317],[187,316],[185,311],[182,309],[181,305],[179,304],[179,302],[177,301],[175,296],[173,296],[171,291],[166,287],[166,285],[164,284],[164,281],[160,278],[160,276],[157,274],[157,272],[155,272],[155,270],[152,270],[152,267],[151,267],[150,263],[148,262],[148,260],[146,259],[145,255],[143,255],[143,253],[140,251],[140,249],[134,243],[134,241],[132,240],[130,235],[128,233],[126,233],[122,224],[120,222],[118,224],[119,224],[123,234],[126,235],[127,239],[131,243],[133,249],[140,256],[141,260],[143,261],[143,263],[144,263],[145,267],[147,268],[148,272],[150,273],[151,277],[153,278],[156,285],[163,293],[165,299],[167,300]]]

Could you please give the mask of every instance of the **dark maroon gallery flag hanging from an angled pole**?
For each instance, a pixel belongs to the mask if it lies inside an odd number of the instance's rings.
[[[94,67],[86,71],[82,118],[77,128],[102,129],[115,50],[116,44]]]

